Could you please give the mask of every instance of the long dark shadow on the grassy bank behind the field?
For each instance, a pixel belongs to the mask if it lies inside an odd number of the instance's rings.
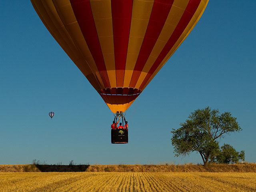
[[[41,172],[84,172],[90,165],[35,165]]]

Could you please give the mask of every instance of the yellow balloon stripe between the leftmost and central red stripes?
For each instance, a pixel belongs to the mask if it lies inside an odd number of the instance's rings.
[[[110,0],[90,0],[92,15],[99,37],[106,70],[115,70],[114,38]],[[116,87],[116,74],[108,76],[111,87]]]

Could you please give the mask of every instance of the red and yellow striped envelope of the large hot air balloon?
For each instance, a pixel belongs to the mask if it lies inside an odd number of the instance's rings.
[[[208,0],[31,2],[113,113],[128,109],[188,36],[208,4]]]

